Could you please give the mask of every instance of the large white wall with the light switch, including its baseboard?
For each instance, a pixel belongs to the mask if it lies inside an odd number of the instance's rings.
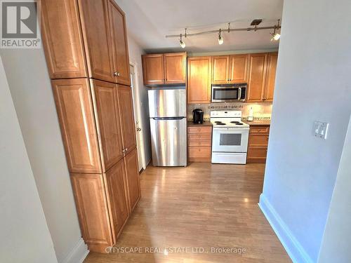
[[[316,262],[351,112],[351,2],[284,1],[260,206],[296,262]],[[330,123],[327,140],[314,121]]]

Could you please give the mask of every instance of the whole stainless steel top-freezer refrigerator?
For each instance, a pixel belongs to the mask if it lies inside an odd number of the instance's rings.
[[[187,165],[187,104],[185,89],[149,90],[152,164]]]

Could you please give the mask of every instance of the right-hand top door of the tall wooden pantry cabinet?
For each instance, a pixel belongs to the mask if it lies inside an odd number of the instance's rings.
[[[124,12],[117,6],[114,0],[109,1],[110,25],[112,36],[112,50],[114,58],[114,72],[119,84],[131,85],[129,73],[128,42],[126,36],[126,19]]]

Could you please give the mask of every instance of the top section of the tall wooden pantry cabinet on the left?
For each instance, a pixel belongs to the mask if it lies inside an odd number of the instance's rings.
[[[130,85],[126,22],[110,0],[41,1],[51,79],[90,77]]]

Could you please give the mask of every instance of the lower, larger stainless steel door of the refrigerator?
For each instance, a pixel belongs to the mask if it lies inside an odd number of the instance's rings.
[[[152,164],[187,165],[187,119],[150,119]]]

